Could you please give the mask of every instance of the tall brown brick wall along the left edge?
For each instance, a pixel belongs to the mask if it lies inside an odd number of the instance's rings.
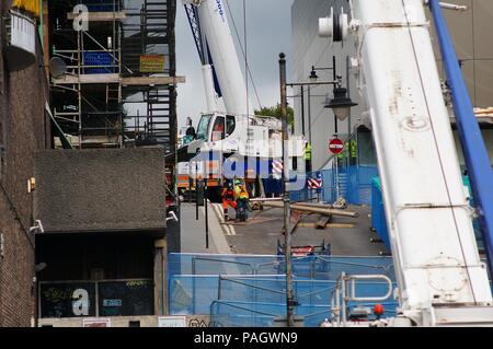
[[[0,0],[0,14],[4,15],[9,3]],[[3,48],[4,23],[0,23]],[[0,170],[0,327],[30,326],[34,312],[34,240],[28,233],[33,197],[27,193],[27,179],[34,176],[34,153],[46,141],[46,84],[39,65],[9,72],[0,55],[0,141],[4,146]]]

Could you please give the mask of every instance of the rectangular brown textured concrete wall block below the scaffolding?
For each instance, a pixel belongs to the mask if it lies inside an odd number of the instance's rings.
[[[42,151],[36,182],[45,232],[164,230],[162,149]]]

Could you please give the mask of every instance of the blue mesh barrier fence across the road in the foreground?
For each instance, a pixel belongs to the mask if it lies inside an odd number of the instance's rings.
[[[341,274],[386,275],[394,281],[389,257],[308,256],[293,260],[294,294],[305,326],[331,317],[331,300]],[[172,315],[210,315],[215,326],[273,326],[286,314],[286,266],[283,256],[169,255],[169,309]],[[381,296],[387,284],[357,283],[359,296]],[[349,309],[362,304],[349,304]],[[370,306],[371,304],[368,304]],[[386,311],[392,314],[390,300]]]

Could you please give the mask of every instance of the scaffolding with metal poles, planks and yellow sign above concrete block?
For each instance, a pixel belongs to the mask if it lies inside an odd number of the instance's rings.
[[[175,0],[49,0],[48,18],[50,57],[67,66],[51,77],[53,114],[74,148],[174,153],[183,81],[175,77]]]

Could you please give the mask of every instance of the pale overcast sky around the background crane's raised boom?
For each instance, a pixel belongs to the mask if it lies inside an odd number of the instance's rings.
[[[231,9],[243,44],[243,0],[223,1]],[[177,3],[180,4],[181,1],[179,0]],[[278,55],[282,51],[287,56],[288,79],[290,77],[293,62],[291,4],[293,0],[246,0],[248,58],[263,106],[272,106],[279,102]],[[177,89],[179,127],[182,127],[187,116],[191,116],[196,124],[199,114],[207,110],[200,60],[185,10],[183,5],[179,5],[176,10],[176,74],[186,77],[186,83],[180,84]],[[241,66],[244,67],[244,58],[241,56],[231,19],[229,24],[237,42]],[[249,85],[252,86],[251,81]],[[259,108],[253,89],[250,94],[253,106]]]

